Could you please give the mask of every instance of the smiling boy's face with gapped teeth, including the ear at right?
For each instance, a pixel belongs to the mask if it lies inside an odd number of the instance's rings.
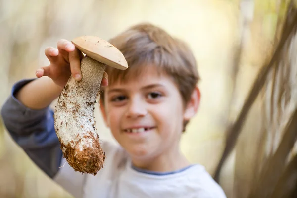
[[[114,138],[139,160],[178,152],[183,122],[195,115],[199,103],[196,92],[185,108],[172,79],[147,68],[137,78],[108,85],[101,105]]]

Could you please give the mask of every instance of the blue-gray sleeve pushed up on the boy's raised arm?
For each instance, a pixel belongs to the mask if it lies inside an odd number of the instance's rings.
[[[60,143],[54,129],[53,110],[49,107],[33,110],[15,98],[15,93],[34,79],[14,84],[4,102],[1,115],[12,139],[50,178],[58,172],[62,159]],[[28,93],[30,94],[30,93]]]

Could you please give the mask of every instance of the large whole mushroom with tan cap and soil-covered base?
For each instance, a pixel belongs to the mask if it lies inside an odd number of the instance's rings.
[[[103,167],[103,152],[94,120],[94,105],[106,66],[124,70],[127,61],[119,49],[95,36],[81,36],[72,43],[82,51],[82,79],[70,76],[54,111],[54,127],[63,157],[81,173],[94,176]]]

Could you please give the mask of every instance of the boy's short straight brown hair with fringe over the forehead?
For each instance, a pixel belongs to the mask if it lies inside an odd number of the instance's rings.
[[[127,60],[129,68],[106,67],[108,83],[139,76],[145,67],[154,66],[172,77],[186,105],[199,81],[198,68],[191,49],[183,41],[150,23],[141,23],[109,40]],[[104,92],[100,99],[104,104]],[[184,128],[188,122],[184,123]]]

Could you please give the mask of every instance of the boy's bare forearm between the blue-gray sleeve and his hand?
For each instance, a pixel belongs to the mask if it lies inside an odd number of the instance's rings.
[[[31,109],[43,109],[50,105],[62,92],[50,78],[42,77],[31,81],[16,93],[16,98]]]

